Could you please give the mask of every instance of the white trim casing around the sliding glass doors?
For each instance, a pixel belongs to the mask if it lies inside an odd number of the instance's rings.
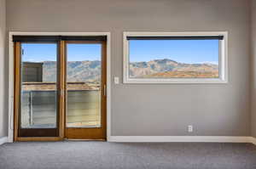
[[[15,121],[16,116],[14,111],[15,107],[15,45],[13,42],[14,35],[32,35],[32,36],[106,36],[107,37],[107,141],[110,138],[110,110],[111,110],[111,72],[110,72],[110,32],[20,32],[20,31],[10,31],[9,32],[9,143],[14,142],[15,138]],[[60,117],[64,118],[64,116]],[[65,124],[61,124],[64,127]],[[34,137],[30,138],[19,138],[18,141],[58,141],[64,138],[64,133],[60,132],[60,137]]]

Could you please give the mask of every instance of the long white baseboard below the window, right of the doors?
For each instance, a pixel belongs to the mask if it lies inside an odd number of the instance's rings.
[[[255,138],[256,139],[256,138]],[[110,136],[108,142],[206,142],[252,143],[252,137],[236,136]]]

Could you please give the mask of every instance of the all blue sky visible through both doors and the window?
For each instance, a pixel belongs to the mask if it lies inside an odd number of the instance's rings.
[[[55,43],[22,43],[23,61],[55,61]],[[100,60],[100,44],[67,44],[68,61]],[[120,56],[121,57],[121,56]],[[173,59],[181,63],[218,64],[218,40],[130,40],[130,61]]]

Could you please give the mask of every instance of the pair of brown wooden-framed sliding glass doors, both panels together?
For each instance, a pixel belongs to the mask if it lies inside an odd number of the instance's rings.
[[[14,37],[15,141],[106,138],[106,37]]]

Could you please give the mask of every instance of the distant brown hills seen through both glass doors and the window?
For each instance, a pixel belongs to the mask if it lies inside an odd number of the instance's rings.
[[[56,65],[45,61],[44,82],[55,82]],[[67,79],[71,82],[98,82],[101,75],[101,61],[67,62]],[[154,59],[148,62],[132,62],[131,77],[218,77],[218,65],[183,64],[172,59]]]

